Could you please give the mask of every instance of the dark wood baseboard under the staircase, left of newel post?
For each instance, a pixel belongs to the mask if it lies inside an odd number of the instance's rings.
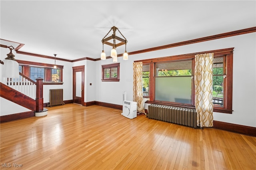
[[[15,113],[12,115],[4,115],[4,116],[0,117],[0,123],[15,121],[15,120],[19,120],[19,119],[25,119],[25,118],[34,117],[34,116],[35,116],[34,111]]]

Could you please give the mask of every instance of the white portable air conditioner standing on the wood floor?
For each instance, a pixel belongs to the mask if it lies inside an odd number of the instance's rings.
[[[137,117],[137,102],[125,100],[123,103],[123,113],[121,114],[129,119]]]

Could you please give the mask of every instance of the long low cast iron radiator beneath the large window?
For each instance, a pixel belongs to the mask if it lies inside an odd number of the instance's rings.
[[[148,118],[197,128],[196,110],[164,105],[148,105]]]

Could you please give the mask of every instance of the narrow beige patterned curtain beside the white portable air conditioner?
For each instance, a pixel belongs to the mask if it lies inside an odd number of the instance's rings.
[[[137,106],[143,99],[142,93],[142,62],[133,63],[133,101],[137,102]]]

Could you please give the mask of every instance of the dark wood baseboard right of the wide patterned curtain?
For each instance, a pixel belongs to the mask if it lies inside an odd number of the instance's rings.
[[[232,123],[213,121],[213,128],[218,128],[221,130],[227,130],[230,132],[246,134],[249,136],[256,137],[256,127],[248,127],[244,125],[236,125]]]

